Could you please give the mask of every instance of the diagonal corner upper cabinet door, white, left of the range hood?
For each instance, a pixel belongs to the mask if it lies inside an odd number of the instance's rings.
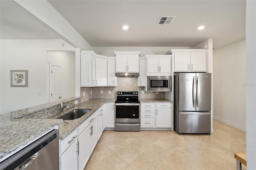
[[[106,86],[107,85],[107,60],[96,58],[95,61],[95,78],[96,86]]]

